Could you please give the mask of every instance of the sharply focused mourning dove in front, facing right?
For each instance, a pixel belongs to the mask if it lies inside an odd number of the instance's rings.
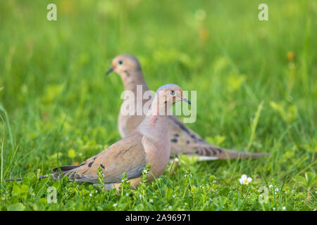
[[[151,165],[148,181],[163,174],[170,158],[168,136],[168,111],[178,101],[190,102],[182,96],[182,90],[176,84],[161,86],[144,120],[128,136],[94,155],[80,165],[69,165],[53,169],[53,179],[69,175],[70,181],[98,183],[98,168],[104,173],[106,189],[120,186],[123,173],[127,174],[130,186],[135,187],[142,180],[144,168]],[[162,115],[164,113],[164,115]],[[44,175],[41,178],[47,177]],[[21,180],[8,179],[6,181]]]

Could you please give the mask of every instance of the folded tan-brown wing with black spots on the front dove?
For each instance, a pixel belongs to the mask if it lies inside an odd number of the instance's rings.
[[[98,155],[82,162],[79,167],[63,173],[68,174],[69,179],[73,181],[97,183],[98,167],[101,167],[106,184],[120,183],[123,173],[127,174],[127,179],[139,177],[147,166],[141,140],[142,134],[133,131]]]

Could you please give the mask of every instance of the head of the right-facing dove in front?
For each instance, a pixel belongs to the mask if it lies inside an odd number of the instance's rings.
[[[154,101],[151,105],[151,113],[156,115],[167,115],[172,105],[178,101],[185,101],[186,103],[191,104],[190,101],[182,95],[180,86],[176,84],[163,85],[156,91]]]

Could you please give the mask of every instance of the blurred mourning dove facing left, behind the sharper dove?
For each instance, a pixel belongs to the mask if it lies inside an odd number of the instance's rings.
[[[137,96],[137,85],[142,85],[142,94],[144,91],[148,91],[147,83],[145,82],[141,65],[134,56],[130,55],[119,55],[112,61],[112,67],[106,72],[116,72],[120,75],[125,86],[125,90],[132,91]],[[142,105],[149,101],[148,99],[137,101],[137,98],[125,98],[123,105],[127,105],[127,101],[135,104],[134,115],[123,115],[120,110],[118,117],[118,129],[120,135],[125,137],[129,135],[138,125],[142,122],[145,115],[137,115],[137,110],[142,112]],[[151,100],[150,100],[151,101]],[[123,107],[121,105],[121,107]],[[263,155],[269,155],[268,153],[248,153],[238,150],[228,150],[220,148],[218,146],[212,146],[207,143],[204,139],[196,134],[194,131],[189,129],[183,124],[178,117],[170,115],[168,117],[169,125],[169,136],[171,142],[171,155],[187,154],[192,155],[193,153],[199,157],[199,160],[218,160],[226,158],[257,158]]]

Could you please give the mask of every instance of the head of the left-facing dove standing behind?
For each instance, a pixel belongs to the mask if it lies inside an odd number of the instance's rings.
[[[138,72],[141,70],[141,65],[139,60],[135,56],[130,55],[119,55],[112,60],[112,66],[110,70],[106,72],[108,75],[110,72],[114,71],[122,77],[122,79],[128,79],[133,72]]]

